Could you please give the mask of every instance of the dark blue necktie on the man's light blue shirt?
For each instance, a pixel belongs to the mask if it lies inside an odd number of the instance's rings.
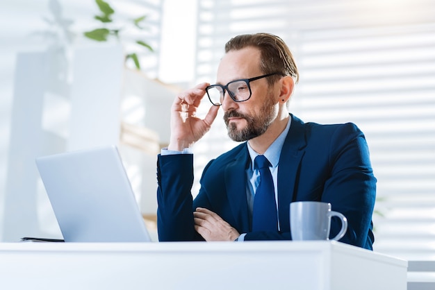
[[[254,168],[260,171],[260,183],[255,191],[254,210],[252,211],[252,231],[277,231],[277,203],[269,160],[258,155],[254,160]]]

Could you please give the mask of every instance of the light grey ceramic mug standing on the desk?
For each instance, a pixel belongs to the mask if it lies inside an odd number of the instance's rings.
[[[347,230],[347,219],[331,211],[331,203],[296,201],[290,203],[290,232],[294,241],[329,240],[331,216],[341,220],[341,230],[331,240],[338,241]]]

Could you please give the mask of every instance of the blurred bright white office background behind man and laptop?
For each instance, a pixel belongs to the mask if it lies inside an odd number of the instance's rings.
[[[110,23],[94,18],[92,0],[0,2],[1,241],[59,237],[34,158],[100,144],[119,146],[152,221],[172,99],[215,82],[231,37],[268,32],[286,41],[299,68],[290,111],[306,122],[352,121],[366,134],[378,179],[375,251],[435,258],[434,1],[107,3]],[[120,29],[120,39],[83,35],[101,27]],[[133,53],[140,69],[124,61]],[[195,145],[194,196],[206,162],[236,145],[221,117]]]

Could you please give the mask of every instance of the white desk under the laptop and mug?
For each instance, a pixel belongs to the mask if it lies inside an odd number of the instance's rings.
[[[0,244],[0,289],[407,289],[407,262],[331,241]]]

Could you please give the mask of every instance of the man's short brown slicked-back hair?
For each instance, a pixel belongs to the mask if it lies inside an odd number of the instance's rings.
[[[292,76],[295,82],[299,80],[299,72],[284,40],[270,33],[255,33],[238,35],[231,38],[225,44],[225,53],[233,50],[252,46],[261,51],[260,69],[264,74],[281,73],[283,76]],[[268,78],[270,84],[274,83],[279,76]]]

